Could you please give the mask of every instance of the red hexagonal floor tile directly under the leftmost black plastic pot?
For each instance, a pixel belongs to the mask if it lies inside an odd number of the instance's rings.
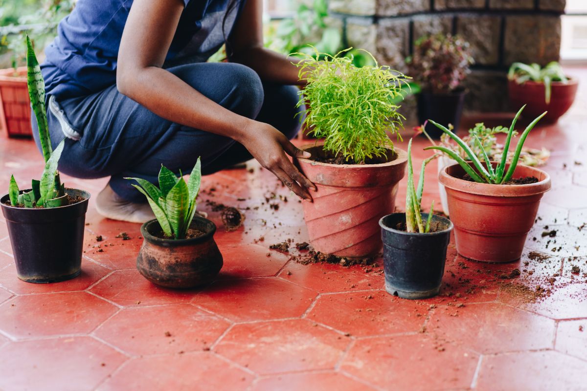
[[[25,281],[21,281],[16,277],[16,266],[12,264],[0,273],[0,285],[3,285],[14,293],[21,295],[31,293],[82,291],[110,272],[111,270],[93,263],[92,261],[83,260],[82,273],[76,278],[72,278],[72,280],[55,284],[31,284],[25,283]]]

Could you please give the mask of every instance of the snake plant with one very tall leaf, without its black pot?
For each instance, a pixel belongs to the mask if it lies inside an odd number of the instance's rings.
[[[26,81],[29,87],[31,106],[38,123],[39,140],[41,141],[43,158],[45,158],[45,169],[41,175],[41,180],[33,179],[31,190],[22,193],[18,188],[14,175],[12,175],[8,186],[8,195],[12,206],[56,208],[68,203],[65,186],[61,183],[59,172],[57,171],[65,141],[60,142],[55,150],[51,148],[45,107],[45,81],[28,35],[26,36],[26,66],[28,68]]]

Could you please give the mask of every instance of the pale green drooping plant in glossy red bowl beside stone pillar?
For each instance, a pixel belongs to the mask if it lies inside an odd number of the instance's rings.
[[[512,107],[527,103],[525,114],[534,118],[544,111],[545,123],[555,123],[571,108],[579,87],[579,81],[565,76],[561,65],[513,63],[508,72],[508,93]]]

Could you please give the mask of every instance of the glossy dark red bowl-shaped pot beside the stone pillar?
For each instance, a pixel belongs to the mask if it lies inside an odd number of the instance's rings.
[[[546,103],[544,92],[544,83],[538,81],[526,81],[518,84],[515,80],[508,80],[508,93],[510,95],[510,105],[514,110],[527,104],[522,117],[536,118],[538,115],[548,111],[541,122],[555,123],[561,115],[565,114],[571,108],[579,81],[569,79],[568,83],[562,81],[553,81],[551,90],[551,101]]]

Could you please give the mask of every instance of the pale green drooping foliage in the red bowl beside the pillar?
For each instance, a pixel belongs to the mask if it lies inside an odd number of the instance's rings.
[[[515,80],[518,84],[523,84],[528,80],[544,83],[544,100],[546,104],[550,103],[553,81],[569,82],[569,79],[565,76],[565,72],[562,70],[561,64],[556,61],[549,62],[544,68],[536,63],[529,65],[513,63],[508,72],[508,79]]]

